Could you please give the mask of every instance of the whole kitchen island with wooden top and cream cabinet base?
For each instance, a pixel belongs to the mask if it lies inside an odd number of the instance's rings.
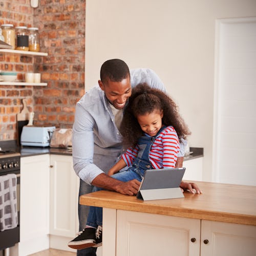
[[[103,207],[104,255],[255,255],[256,187],[197,182],[203,194],[141,201],[112,191],[80,197]]]

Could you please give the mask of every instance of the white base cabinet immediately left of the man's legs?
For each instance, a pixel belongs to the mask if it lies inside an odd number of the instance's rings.
[[[50,167],[50,248],[75,251],[67,244],[79,227],[79,178],[72,156],[50,155]]]

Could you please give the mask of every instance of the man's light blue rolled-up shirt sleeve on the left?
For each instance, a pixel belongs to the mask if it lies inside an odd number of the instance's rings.
[[[94,154],[94,119],[78,102],[73,124],[73,166],[76,174],[84,182],[92,181],[103,171],[93,164]]]

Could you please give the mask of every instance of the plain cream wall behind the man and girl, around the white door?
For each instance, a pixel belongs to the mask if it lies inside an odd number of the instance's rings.
[[[256,16],[255,0],[87,0],[86,89],[106,59],[155,70],[192,132],[189,144],[204,147],[203,178],[210,181],[215,23],[247,16]]]

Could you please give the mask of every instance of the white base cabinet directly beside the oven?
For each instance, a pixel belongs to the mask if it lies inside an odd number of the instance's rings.
[[[20,243],[18,255],[49,248],[50,157],[20,159]]]

